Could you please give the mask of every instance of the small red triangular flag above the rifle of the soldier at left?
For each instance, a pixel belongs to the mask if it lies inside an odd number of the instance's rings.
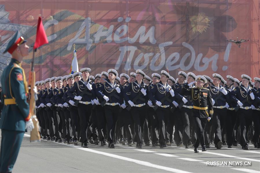
[[[36,40],[34,43],[34,49],[42,46],[43,44],[48,44],[48,39],[43,27],[42,18],[39,17],[38,19],[38,25],[37,25],[37,31],[36,31]]]

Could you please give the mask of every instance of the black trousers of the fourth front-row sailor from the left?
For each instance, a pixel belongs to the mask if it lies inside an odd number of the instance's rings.
[[[170,108],[163,108],[163,107],[158,107],[156,109],[156,118],[158,121],[158,129],[159,129],[159,142],[162,144],[166,140],[167,136],[167,125],[169,121],[169,116],[173,116],[170,114]]]

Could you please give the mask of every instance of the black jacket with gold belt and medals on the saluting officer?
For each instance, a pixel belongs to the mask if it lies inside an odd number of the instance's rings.
[[[180,94],[189,94],[193,102],[193,116],[208,118],[213,116],[211,93],[207,88],[189,87],[184,85]],[[208,113],[209,110],[209,113]]]

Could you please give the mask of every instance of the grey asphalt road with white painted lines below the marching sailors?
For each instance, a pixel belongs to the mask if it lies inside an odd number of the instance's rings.
[[[47,140],[31,143],[25,134],[13,172],[260,172],[260,149],[252,144],[250,150],[224,146],[206,152],[199,148],[199,153],[176,145],[163,149],[115,146],[89,144],[82,148]],[[207,161],[215,165],[207,165]]]

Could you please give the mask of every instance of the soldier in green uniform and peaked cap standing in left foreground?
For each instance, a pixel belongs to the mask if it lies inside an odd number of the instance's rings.
[[[12,172],[14,163],[23,140],[25,129],[31,131],[34,126],[27,103],[27,82],[21,67],[23,57],[28,55],[29,46],[26,40],[16,31],[3,53],[12,54],[10,64],[1,76],[4,103],[0,120],[2,129],[0,172]]]

